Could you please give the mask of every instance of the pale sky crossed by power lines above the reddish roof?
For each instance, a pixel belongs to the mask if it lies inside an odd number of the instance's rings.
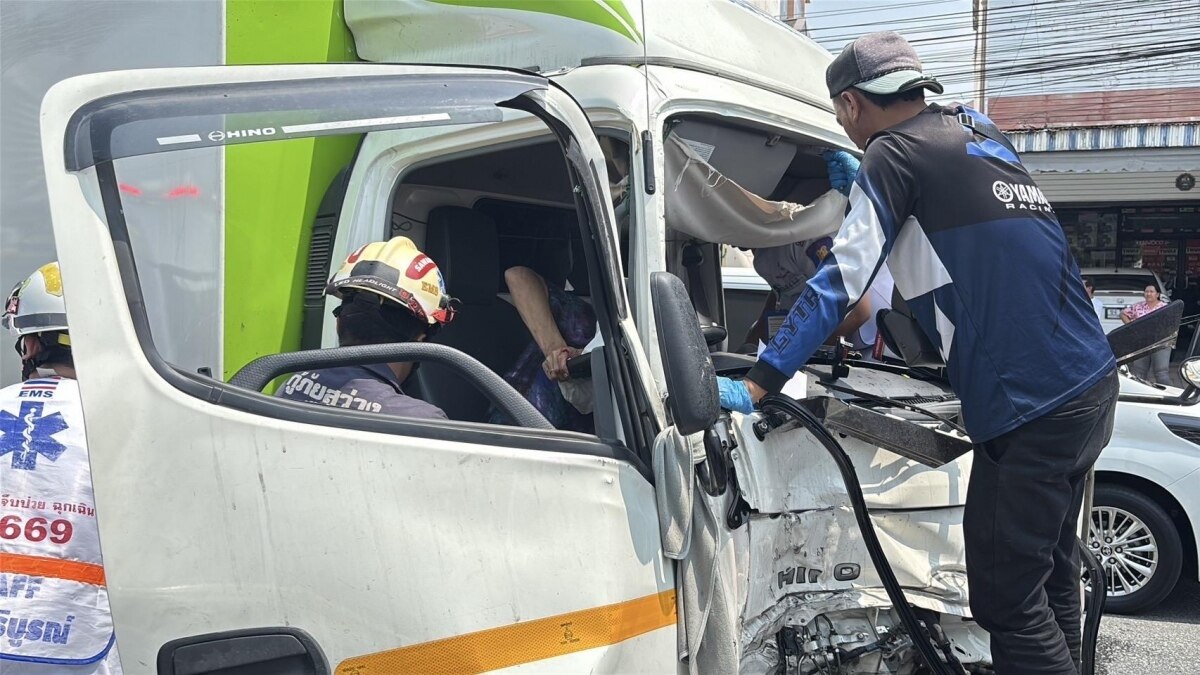
[[[1195,0],[988,0],[988,7],[989,97],[1200,83]],[[806,14],[809,35],[834,53],[858,35],[896,30],[946,86],[937,101],[976,97],[971,0],[811,0]]]

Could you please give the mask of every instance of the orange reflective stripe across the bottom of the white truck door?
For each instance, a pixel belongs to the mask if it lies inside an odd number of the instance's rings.
[[[613,645],[676,622],[676,592],[523,621],[408,647],[354,656],[337,675],[486,673]]]

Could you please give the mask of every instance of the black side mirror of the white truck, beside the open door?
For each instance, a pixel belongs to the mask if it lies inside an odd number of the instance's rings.
[[[683,281],[671,273],[650,275],[650,298],[667,378],[667,411],[679,434],[703,431],[716,422],[721,402],[716,395],[716,371],[696,310]]]

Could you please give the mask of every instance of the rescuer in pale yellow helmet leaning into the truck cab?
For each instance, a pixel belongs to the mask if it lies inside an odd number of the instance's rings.
[[[438,265],[407,237],[354,251],[329,280],[342,347],[419,342],[454,318],[457,304]],[[350,365],[298,372],[275,393],[293,401],[425,419],[446,419],[442,408],[401,388],[412,363]]]

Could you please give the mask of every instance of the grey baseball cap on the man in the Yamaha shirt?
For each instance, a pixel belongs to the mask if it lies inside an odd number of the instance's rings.
[[[912,46],[890,30],[864,35],[847,44],[826,68],[826,85],[830,98],[851,86],[882,95],[918,86],[942,92],[942,85],[922,71]]]

